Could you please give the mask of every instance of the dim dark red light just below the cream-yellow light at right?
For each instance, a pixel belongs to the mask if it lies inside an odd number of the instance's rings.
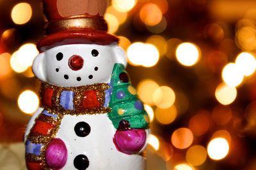
[[[217,125],[225,125],[232,118],[232,111],[229,106],[218,105],[212,110],[212,120]]]

